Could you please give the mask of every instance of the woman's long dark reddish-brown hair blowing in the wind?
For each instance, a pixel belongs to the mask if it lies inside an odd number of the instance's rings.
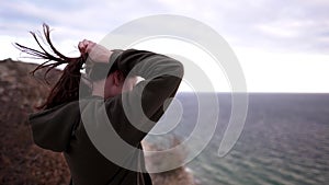
[[[45,62],[38,65],[33,71],[31,71],[32,76],[34,76],[36,71],[45,68],[46,71],[44,73],[43,79],[46,81],[47,84],[49,84],[47,81],[48,72],[60,65],[67,65],[63,70],[61,77],[56,82],[56,84],[52,88],[46,101],[42,105],[36,106],[36,108],[47,109],[64,103],[79,100],[79,86],[80,86],[80,79],[81,79],[80,70],[82,69],[82,66],[88,58],[88,55],[81,55],[80,57],[77,58],[70,58],[60,54],[54,47],[50,41],[50,31],[47,24],[43,24],[43,34],[46,42],[44,42],[42,35],[38,35],[37,37],[37,35],[34,32],[30,32],[30,33],[32,34],[32,36],[34,37],[34,39],[36,41],[37,45],[42,50],[33,49],[20,45],[18,43],[15,43],[14,45],[21,51],[33,56],[32,58],[46,59]],[[47,48],[50,49],[50,51],[48,51],[41,44],[39,39],[43,41],[45,45],[47,45]]]

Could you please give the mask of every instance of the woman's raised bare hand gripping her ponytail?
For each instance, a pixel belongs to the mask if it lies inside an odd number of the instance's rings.
[[[88,54],[90,60],[94,62],[109,62],[112,51],[104,46],[95,44],[91,41],[83,39],[78,45],[81,55]]]

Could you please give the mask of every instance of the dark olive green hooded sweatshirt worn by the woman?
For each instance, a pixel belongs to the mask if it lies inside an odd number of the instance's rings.
[[[115,50],[110,58],[110,62],[114,61],[124,73],[145,80],[114,97],[89,96],[30,115],[34,142],[64,152],[75,185],[151,184],[140,141],[163,115],[166,100],[174,96],[183,66],[167,56],[135,49]],[[115,135],[107,132],[111,128],[132,147],[131,151],[117,152],[122,146]],[[90,130],[99,136],[98,141],[89,135]],[[122,155],[125,166],[109,160],[94,142],[105,148],[106,154],[110,151]]]

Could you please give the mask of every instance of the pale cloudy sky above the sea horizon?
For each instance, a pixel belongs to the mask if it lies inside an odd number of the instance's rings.
[[[98,42],[132,20],[175,14],[223,36],[239,60],[247,92],[329,93],[328,0],[0,0],[0,59],[25,61],[12,43],[34,46],[29,32],[41,31],[43,23],[52,27],[59,50],[73,56],[83,38]],[[155,39],[135,47],[184,54],[205,70],[216,91],[231,91],[225,70],[206,68],[212,58],[186,43]],[[180,90],[193,91],[193,84],[185,81]]]

